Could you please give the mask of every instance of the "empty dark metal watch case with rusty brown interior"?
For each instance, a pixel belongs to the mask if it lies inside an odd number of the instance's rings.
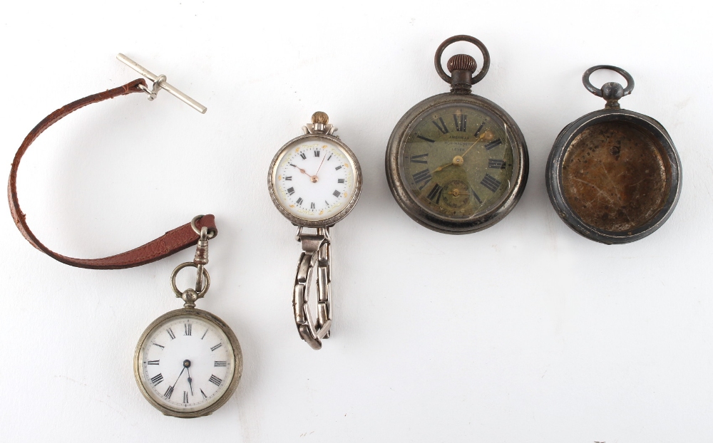
[[[590,82],[599,69],[627,80]],[[605,244],[644,238],[670,217],[681,193],[681,161],[670,135],[647,115],[620,109],[634,79],[616,66],[585,71],[585,88],[605,108],[567,125],[555,140],[545,171],[548,194],[560,218],[588,239]]]

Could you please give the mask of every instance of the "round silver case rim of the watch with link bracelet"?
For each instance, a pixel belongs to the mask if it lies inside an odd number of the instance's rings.
[[[342,148],[342,150],[344,150],[344,153],[347,154],[349,160],[352,162],[352,165],[354,165],[355,187],[352,199],[349,200],[349,203],[347,203],[347,206],[345,206],[342,211],[324,220],[307,220],[302,219],[300,217],[295,217],[294,215],[290,214],[287,209],[284,209],[284,207],[282,207],[282,204],[280,204],[279,200],[277,199],[277,196],[275,196],[275,176],[277,175],[277,164],[279,163],[279,160],[282,159],[282,156],[285,155],[288,148],[292,144],[294,144],[295,142],[299,142],[300,140],[307,140],[309,138],[329,140],[335,145],[338,145]],[[282,145],[279,151],[277,151],[277,154],[275,154],[275,157],[272,158],[272,163],[270,163],[270,170],[268,170],[267,173],[267,188],[270,190],[270,199],[272,199],[272,203],[275,204],[277,210],[286,219],[292,222],[292,224],[294,224],[295,226],[305,226],[310,228],[326,228],[329,226],[333,226],[334,224],[339,222],[339,220],[343,219],[344,217],[347,217],[347,214],[349,214],[349,212],[354,209],[354,205],[356,205],[356,202],[359,200],[359,194],[361,194],[361,166],[359,165],[359,160],[356,160],[356,155],[354,155],[354,152],[352,152],[352,150],[349,149],[349,146],[347,146],[346,143],[342,142],[339,137],[327,134],[304,134],[300,135],[299,137],[294,137],[292,140],[289,140],[289,142]]]

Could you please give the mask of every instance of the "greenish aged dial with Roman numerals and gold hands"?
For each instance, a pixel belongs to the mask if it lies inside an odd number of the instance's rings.
[[[496,207],[513,185],[505,123],[468,103],[419,115],[401,150],[406,190],[426,211],[468,219]]]

